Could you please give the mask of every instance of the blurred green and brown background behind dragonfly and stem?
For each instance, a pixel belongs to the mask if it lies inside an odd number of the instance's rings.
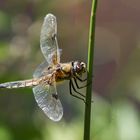
[[[87,62],[91,1],[0,0],[0,83],[28,79],[44,61],[40,29],[57,16],[61,62]],[[97,9],[91,140],[140,139],[140,1],[100,0]],[[85,93],[85,90],[82,91]],[[32,89],[0,90],[0,140],[81,140],[84,103],[58,86],[60,122],[38,108]]]

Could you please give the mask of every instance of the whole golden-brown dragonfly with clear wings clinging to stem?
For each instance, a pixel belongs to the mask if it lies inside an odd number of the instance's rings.
[[[60,63],[61,49],[57,42],[57,20],[49,13],[45,16],[41,28],[40,48],[45,57],[33,73],[33,78],[1,83],[0,88],[32,87],[38,106],[52,121],[59,121],[63,116],[63,107],[57,93],[57,83],[69,80],[70,94],[85,102],[85,95],[78,92],[79,82],[85,82],[83,73],[87,72],[82,61]]]

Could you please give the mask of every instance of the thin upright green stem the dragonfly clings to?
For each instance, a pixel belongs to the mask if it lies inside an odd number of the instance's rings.
[[[87,83],[92,83],[92,77],[93,77],[92,71],[93,71],[93,58],[94,58],[95,19],[96,19],[97,1],[98,0],[92,0],[92,8],[91,8],[89,42],[88,42]],[[92,100],[92,84],[88,85],[86,90],[84,140],[90,140],[91,100]]]

